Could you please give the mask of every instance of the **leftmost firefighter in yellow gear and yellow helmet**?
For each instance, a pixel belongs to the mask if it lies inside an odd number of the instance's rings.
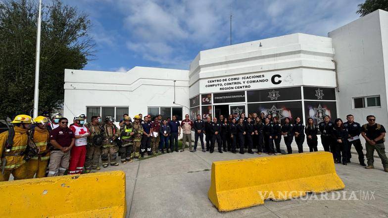
[[[14,126],[0,133],[2,171],[0,181],[8,181],[10,174],[13,175],[14,180],[25,179],[27,176],[27,165],[23,159],[23,152],[27,148],[29,140],[27,131],[31,127],[32,118],[28,115],[17,115],[10,123]],[[9,140],[12,140],[11,144],[8,143]]]

